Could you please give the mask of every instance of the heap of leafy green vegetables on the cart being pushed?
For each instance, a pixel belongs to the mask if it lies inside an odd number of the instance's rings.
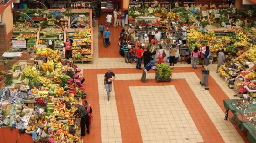
[[[170,76],[172,75],[172,71],[173,71],[171,67],[162,63],[162,64],[158,64],[156,66],[156,69],[157,69],[156,75],[159,78],[170,79]]]

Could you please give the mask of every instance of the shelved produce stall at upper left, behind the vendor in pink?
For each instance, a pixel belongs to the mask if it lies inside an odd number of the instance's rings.
[[[13,28],[13,49],[30,49],[30,52],[33,52],[34,45],[40,45],[40,47],[58,50],[60,56],[65,58],[64,43],[67,38],[71,38],[74,40],[73,61],[92,61],[92,10],[27,9],[20,11],[22,13],[14,14],[13,18],[16,21]],[[31,20],[28,15],[38,20]],[[78,46],[76,46],[77,42]],[[79,53],[78,57],[76,53]]]

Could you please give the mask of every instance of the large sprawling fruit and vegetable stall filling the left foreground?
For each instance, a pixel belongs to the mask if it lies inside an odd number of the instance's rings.
[[[14,91],[0,90],[0,126],[25,129],[27,134],[33,134],[34,141],[82,143],[81,121],[71,115],[83,91],[77,89],[77,94],[73,94],[67,88],[67,81],[74,76],[77,66],[61,60],[56,50],[37,46],[34,49],[35,59],[41,62],[26,65],[23,70],[20,65],[7,70],[22,70],[21,83]]]

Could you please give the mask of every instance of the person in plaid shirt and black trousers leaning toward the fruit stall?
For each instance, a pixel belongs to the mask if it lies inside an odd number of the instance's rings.
[[[85,136],[85,126],[87,134],[90,134],[90,124],[89,124],[89,115],[86,111],[86,108],[80,105],[78,102],[74,104],[77,110],[74,112],[73,116],[81,118],[81,136]]]

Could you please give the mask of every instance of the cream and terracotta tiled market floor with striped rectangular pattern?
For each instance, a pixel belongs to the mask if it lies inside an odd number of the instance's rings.
[[[102,18],[101,21],[104,21]],[[141,70],[126,64],[115,45],[121,28],[110,28],[112,45],[104,48],[94,36],[94,61],[78,66],[83,70],[87,100],[93,122],[85,143],[249,143],[236,123],[224,121],[223,99],[233,99],[233,90],[209,66],[209,91],[202,91],[200,70],[176,64],[172,81],[155,81],[149,71],[147,83]],[[94,27],[94,35],[98,29]],[[104,73],[116,74],[110,101],[103,88]]]

